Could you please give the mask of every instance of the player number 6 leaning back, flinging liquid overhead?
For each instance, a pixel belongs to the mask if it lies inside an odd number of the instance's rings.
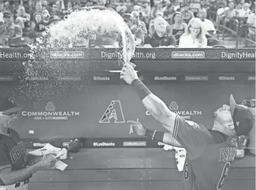
[[[137,121],[130,123],[130,133],[147,136],[157,142],[187,150],[183,168],[183,190],[220,190],[223,188],[231,162],[236,156],[234,139],[247,136],[254,125],[254,117],[246,106],[237,105],[230,97],[229,105],[214,112],[211,130],[193,121],[187,121],[170,111],[141,80],[130,64],[125,64],[120,79],[130,84],[146,109],[168,132],[146,129]]]

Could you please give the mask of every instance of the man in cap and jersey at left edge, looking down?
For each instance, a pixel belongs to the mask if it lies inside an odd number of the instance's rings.
[[[9,97],[0,97],[0,190],[27,190],[29,178],[39,170],[53,170],[55,155],[45,158],[27,153],[19,134],[11,129],[21,108]],[[71,140],[68,150],[76,152],[79,142]]]

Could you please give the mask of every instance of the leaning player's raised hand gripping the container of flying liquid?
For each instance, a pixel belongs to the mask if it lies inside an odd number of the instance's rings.
[[[120,79],[125,80],[127,84],[131,84],[133,80],[139,78],[133,66],[131,66],[131,64],[129,63],[125,63],[123,65],[123,69],[121,69]]]

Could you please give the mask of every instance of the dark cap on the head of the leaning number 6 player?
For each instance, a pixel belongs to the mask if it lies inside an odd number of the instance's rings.
[[[229,98],[229,106],[231,116],[234,121],[235,131],[237,136],[247,136],[254,127],[254,116],[249,108],[244,105],[238,105],[233,97]]]

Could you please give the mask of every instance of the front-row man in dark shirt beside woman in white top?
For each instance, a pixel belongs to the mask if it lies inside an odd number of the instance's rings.
[[[166,30],[166,20],[162,17],[156,18],[154,28],[156,31],[153,35],[146,35],[144,48],[175,48],[175,38]]]

